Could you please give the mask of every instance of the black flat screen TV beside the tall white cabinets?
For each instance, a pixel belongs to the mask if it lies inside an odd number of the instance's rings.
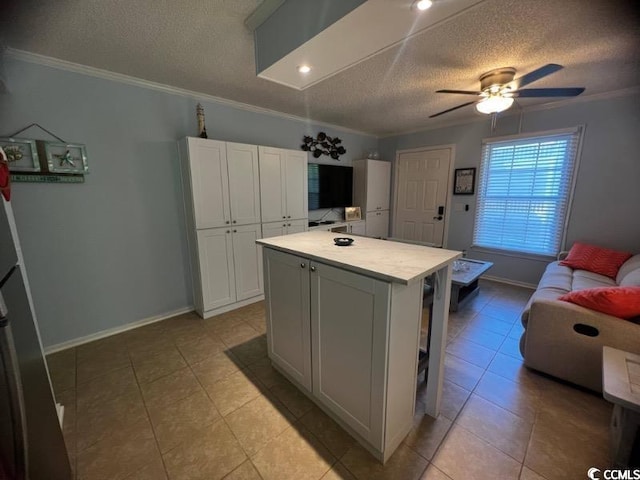
[[[353,167],[309,163],[309,210],[353,204]]]

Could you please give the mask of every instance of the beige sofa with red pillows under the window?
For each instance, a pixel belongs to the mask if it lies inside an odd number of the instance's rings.
[[[640,324],[558,300],[595,287],[640,286],[640,254],[627,260],[616,279],[549,264],[522,313],[520,352],[527,367],[602,391],[602,347],[640,354]]]

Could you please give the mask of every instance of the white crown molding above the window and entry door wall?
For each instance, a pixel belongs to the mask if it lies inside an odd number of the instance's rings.
[[[595,102],[599,100],[607,100],[610,98],[626,97],[630,95],[637,95],[638,93],[640,93],[640,86],[635,86],[635,87],[621,88],[619,90],[612,90],[609,92],[594,93],[593,95],[566,98],[564,100],[560,100],[557,102],[542,103],[537,105],[531,105],[529,107],[511,108],[507,110],[507,113],[501,114],[498,117],[498,120],[501,118],[513,117],[513,116],[520,115],[522,113],[527,113],[527,112],[553,110],[555,108],[562,108],[569,105],[575,105],[577,103]],[[378,139],[382,140],[385,138],[399,137],[402,135],[411,135],[413,133],[428,132],[431,130],[440,130],[441,128],[456,127],[459,125],[469,125],[470,123],[486,122],[488,120],[489,121],[491,120],[491,117],[489,115],[478,114],[478,118],[464,118],[464,119],[458,119],[458,120],[451,120],[448,122],[442,122],[437,125],[432,125],[429,127],[415,128],[415,129],[405,130],[397,133],[378,135]]]

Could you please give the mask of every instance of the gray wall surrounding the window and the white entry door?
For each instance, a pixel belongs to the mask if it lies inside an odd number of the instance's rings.
[[[380,151],[383,158],[395,160],[397,150],[455,144],[455,167],[479,168],[482,139],[518,133],[519,120],[517,114],[500,118],[493,134],[487,117],[466,125],[385,138],[380,140]],[[522,133],[580,124],[586,129],[566,246],[583,241],[640,252],[640,94],[529,111],[522,117]],[[494,262],[493,276],[537,284],[548,259],[470,250],[476,197],[453,196],[453,203],[469,203],[470,209],[455,212],[449,208],[449,248],[469,250],[474,258]]]

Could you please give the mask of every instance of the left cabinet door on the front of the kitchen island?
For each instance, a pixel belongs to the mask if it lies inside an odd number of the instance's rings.
[[[309,261],[264,249],[269,358],[311,391]]]

